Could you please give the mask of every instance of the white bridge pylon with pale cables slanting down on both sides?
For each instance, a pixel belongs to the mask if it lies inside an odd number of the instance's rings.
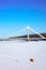
[[[18,30],[16,33],[21,33],[25,30],[27,31],[28,41],[30,40],[30,38],[29,38],[30,31],[39,34],[42,39],[45,39],[45,37],[43,37],[41,33],[36,32],[34,29],[30,28],[30,26],[27,26],[26,28],[22,28],[22,29]]]

